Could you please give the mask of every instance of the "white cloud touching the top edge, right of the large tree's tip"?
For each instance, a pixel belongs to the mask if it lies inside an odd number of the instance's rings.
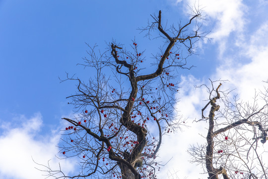
[[[225,52],[227,38],[232,32],[243,38],[239,34],[243,32],[247,22],[245,13],[248,8],[242,0],[186,0],[183,2],[187,13],[190,10],[189,5],[193,9],[195,7],[201,9],[203,14],[207,14],[208,21],[203,21],[203,23],[212,28],[207,37],[212,38],[212,42],[218,43],[219,56]]]

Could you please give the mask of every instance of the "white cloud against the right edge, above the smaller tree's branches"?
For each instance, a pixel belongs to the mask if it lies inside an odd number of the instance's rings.
[[[239,96],[244,101],[251,100],[255,89],[263,89],[262,81],[268,79],[268,42],[265,40],[267,33],[268,23],[263,23],[255,33],[252,33],[248,41],[240,44],[239,55],[235,58],[228,57],[228,63],[219,67],[214,76],[230,80],[229,85],[237,88]]]

